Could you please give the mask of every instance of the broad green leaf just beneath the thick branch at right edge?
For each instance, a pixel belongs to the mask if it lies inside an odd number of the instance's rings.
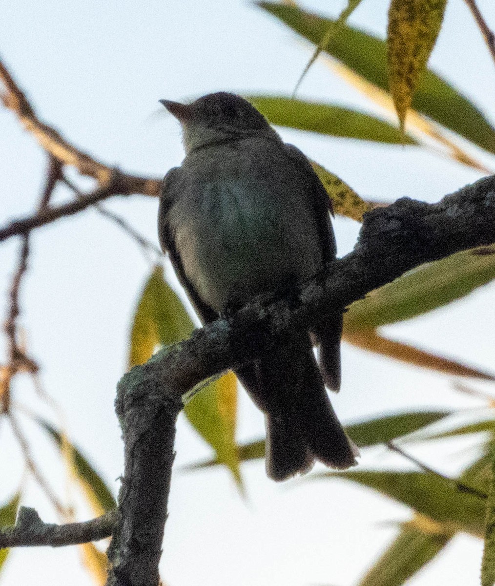
[[[478,254],[483,250],[483,254]],[[371,291],[344,314],[344,329],[357,332],[414,318],[469,294],[495,278],[495,246],[472,248],[427,263]]]

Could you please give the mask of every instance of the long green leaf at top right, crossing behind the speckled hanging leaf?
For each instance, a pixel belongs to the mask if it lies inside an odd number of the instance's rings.
[[[330,23],[335,22],[296,6],[270,2],[259,5],[315,45],[324,38]],[[325,52],[388,91],[387,46],[383,40],[343,26],[339,35],[325,47]],[[412,108],[495,153],[495,129],[475,105],[431,70],[425,71],[414,94]]]

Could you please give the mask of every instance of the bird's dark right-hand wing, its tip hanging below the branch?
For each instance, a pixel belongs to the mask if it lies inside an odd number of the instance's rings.
[[[312,197],[315,219],[318,223],[320,244],[323,251],[323,262],[332,263],[335,260],[337,245],[330,223],[329,212],[333,215],[332,200],[328,196],[318,175],[311,163],[297,147],[286,144],[285,149],[291,161],[298,165],[301,173],[308,177],[309,195]],[[340,338],[342,336],[342,315],[322,319],[315,326],[313,333],[319,345],[318,363],[320,371],[329,389],[340,389]]]

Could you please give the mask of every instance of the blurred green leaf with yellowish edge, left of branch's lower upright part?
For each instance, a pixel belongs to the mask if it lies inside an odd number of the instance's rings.
[[[114,495],[112,495],[103,478],[91,466],[86,456],[83,455],[83,452],[71,444],[64,434],[57,431],[47,421],[39,417],[36,421],[54,440],[63,458],[71,466],[74,476],[95,515],[103,515],[106,511],[114,509],[117,506]]]

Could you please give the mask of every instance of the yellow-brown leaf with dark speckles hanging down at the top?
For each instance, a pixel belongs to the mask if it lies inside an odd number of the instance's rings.
[[[388,11],[387,57],[390,93],[404,128],[436,38],[446,0],[392,0]]]

